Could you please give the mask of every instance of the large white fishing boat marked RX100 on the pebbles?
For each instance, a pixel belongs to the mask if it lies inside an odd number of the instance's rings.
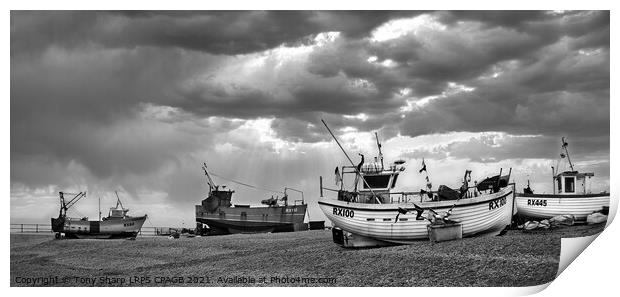
[[[441,222],[458,226],[460,237],[498,234],[511,224],[514,185],[508,184],[509,175],[500,172],[470,187],[468,170],[458,191],[442,186],[438,191],[393,192],[399,174],[405,170],[405,161],[384,166],[378,138],[377,146],[375,162],[362,160],[357,166],[342,149],[351,166],[336,169],[340,189],[323,187],[320,178],[319,206],[332,222],[335,243],[344,247],[410,244],[429,239],[430,230]],[[354,179],[352,191],[344,188],[347,175]],[[337,196],[324,197],[324,190],[336,192]]]

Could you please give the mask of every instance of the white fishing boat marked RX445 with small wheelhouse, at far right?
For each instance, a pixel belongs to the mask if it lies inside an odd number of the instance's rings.
[[[585,220],[588,215],[609,208],[609,193],[607,191],[592,193],[594,173],[579,172],[574,169],[568,154],[568,142],[564,137],[562,137],[561,150],[557,169],[551,167],[553,193],[534,193],[528,181],[523,192],[516,194],[517,214],[519,216],[549,219],[559,215],[573,215],[576,220]],[[566,160],[570,170],[558,172],[563,160]]]

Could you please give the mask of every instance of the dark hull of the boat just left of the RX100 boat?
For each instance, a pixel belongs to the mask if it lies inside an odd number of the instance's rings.
[[[272,207],[219,207],[208,212],[196,205],[196,222],[210,234],[292,232],[305,230],[306,204]]]

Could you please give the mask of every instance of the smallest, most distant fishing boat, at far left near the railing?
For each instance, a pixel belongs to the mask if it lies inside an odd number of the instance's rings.
[[[64,234],[65,238],[83,239],[108,239],[108,238],[135,238],[147,215],[139,217],[131,217],[127,215],[129,209],[123,207],[123,204],[116,193],[116,207],[110,208],[107,217],[101,218],[99,211],[99,220],[89,221],[88,218],[70,218],[67,217],[69,210],[80,199],[86,197],[86,192],[78,194],[59,192],[60,196],[60,213],[58,218],[52,218],[52,231],[56,233],[56,238],[61,238]],[[65,195],[74,195],[67,201]]]

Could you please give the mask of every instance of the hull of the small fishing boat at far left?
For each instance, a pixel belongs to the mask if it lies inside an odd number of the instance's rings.
[[[64,220],[64,222],[60,220]],[[136,237],[145,221],[146,215],[105,221],[52,218],[52,230],[57,233],[64,233],[66,238],[128,238]]]

